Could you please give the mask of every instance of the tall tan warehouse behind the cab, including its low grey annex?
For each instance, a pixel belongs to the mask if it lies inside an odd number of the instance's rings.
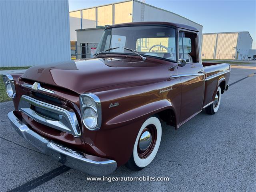
[[[127,0],[70,12],[70,40],[72,57],[88,58],[98,46],[104,28],[112,24],[141,21],[176,22],[194,26],[200,32],[202,25],[173,12],[138,0]]]

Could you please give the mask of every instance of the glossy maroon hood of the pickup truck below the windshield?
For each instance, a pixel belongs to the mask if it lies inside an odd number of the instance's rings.
[[[125,59],[93,58],[33,66],[22,78],[82,94],[166,80],[169,76],[167,67],[156,59],[127,62]]]

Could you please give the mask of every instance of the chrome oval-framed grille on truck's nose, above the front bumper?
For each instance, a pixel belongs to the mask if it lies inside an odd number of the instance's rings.
[[[18,110],[38,123],[70,133],[75,137],[81,136],[78,120],[72,109],[67,110],[23,95]]]

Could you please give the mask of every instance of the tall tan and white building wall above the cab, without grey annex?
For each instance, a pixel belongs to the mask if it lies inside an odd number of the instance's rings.
[[[142,14],[143,8],[144,14]],[[86,29],[119,23],[140,22],[142,20],[176,22],[194,26],[200,31],[199,40],[201,45],[202,25],[167,10],[142,4],[137,0],[128,0],[70,12],[70,39],[71,41],[76,41],[75,30],[81,29],[81,26],[82,29]]]

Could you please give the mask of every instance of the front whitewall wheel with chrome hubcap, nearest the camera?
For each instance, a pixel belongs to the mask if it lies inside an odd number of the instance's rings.
[[[126,166],[132,170],[142,170],[155,158],[161,142],[162,126],[160,120],[153,116],[141,126],[133,152]]]

